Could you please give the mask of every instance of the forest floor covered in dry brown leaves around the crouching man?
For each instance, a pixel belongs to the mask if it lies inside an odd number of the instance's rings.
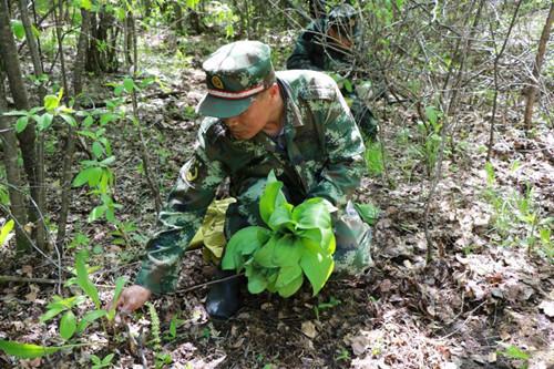
[[[193,150],[198,119],[191,106],[205,90],[194,58],[194,68],[186,70],[170,64],[163,71],[147,70],[166,89],[179,91],[141,103],[155,175],[166,189]],[[95,83],[91,81],[89,89]],[[96,98],[105,94],[109,91],[100,85]],[[382,104],[376,104],[378,115]],[[366,177],[357,194],[358,201],[370,201],[381,209],[375,227],[375,267],[366,275],[331,276],[317,297],[307,286],[288,299],[248,295],[244,289],[236,317],[214,321],[203,306],[207,288],[191,289],[211,280],[213,267],[199,250],[187,252],[179,291],[153,300],[161,320],[161,348],[152,344],[152,316],[145,308],[115,328],[89,327],[81,336],[86,346],[33,360],[2,353],[0,367],[90,368],[90,355],[113,352],[116,368],[142,368],[143,360],[150,368],[157,351],[171,357],[172,368],[552,368],[554,278],[552,244],[546,242],[552,237],[531,236],[533,227],[552,228],[547,216],[554,209],[553,131],[544,123],[527,137],[515,124],[522,105],[510,106],[497,122],[493,170],[485,171],[490,109],[459,114],[455,153],[443,162],[443,180],[430,208],[435,249],[433,262],[425,265],[423,216],[430,181],[417,113],[401,104],[384,107],[388,120],[381,119],[380,135],[387,171]],[[72,232],[88,237],[93,249],[90,264],[100,266],[91,277],[105,304],[117,276],[132,280],[155,224],[135,134],[126,134],[127,130],[132,132],[132,126],[114,125],[109,131],[117,155],[115,197],[123,205],[117,215],[135,226],[129,230],[129,245],[115,242],[121,237],[111,225],[85,222],[94,204],[84,189],[71,208]],[[57,151],[51,155],[55,157]],[[80,153],[78,160],[84,158]],[[55,183],[50,191],[58,191]],[[534,223],[529,221],[533,215]],[[64,266],[72,267],[72,254],[68,253]],[[9,247],[0,255],[0,275],[55,278],[48,263],[16,259]],[[39,320],[58,294],[54,284],[9,283],[0,290],[0,338],[62,344],[58,319]],[[63,288],[64,296],[70,291],[76,291],[75,286]],[[85,304],[75,311],[83,315],[91,308]],[[140,332],[136,345],[130,332]]]

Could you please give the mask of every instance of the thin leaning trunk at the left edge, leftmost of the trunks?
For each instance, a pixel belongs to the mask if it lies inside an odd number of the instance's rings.
[[[31,238],[24,230],[27,224],[27,207],[23,196],[23,183],[18,167],[18,137],[10,126],[8,117],[2,114],[8,110],[6,91],[3,86],[4,74],[0,70],[0,137],[3,142],[3,163],[8,180],[10,196],[10,211],[16,223],[16,245],[19,253],[31,249]]]

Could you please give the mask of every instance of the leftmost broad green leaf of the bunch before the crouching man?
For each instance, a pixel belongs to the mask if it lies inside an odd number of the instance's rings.
[[[245,263],[245,256],[259,249],[269,239],[269,230],[261,227],[246,227],[239,229],[230,237],[225,255],[222,260],[222,268],[242,269]]]

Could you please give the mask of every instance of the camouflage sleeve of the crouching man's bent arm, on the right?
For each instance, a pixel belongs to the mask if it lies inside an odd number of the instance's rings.
[[[326,101],[321,111],[327,165],[319,183],[310,189],[308,197],[320,196],[337,206],[345,205],[360,184],[365,172],[366,147],[348,105],[336,88],[337,98]]]

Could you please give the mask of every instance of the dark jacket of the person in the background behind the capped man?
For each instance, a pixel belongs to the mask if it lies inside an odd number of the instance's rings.
[[[351,66],[350,53],[328,40],[327,22],[325,18],[317,19],[298,37],[287,69],[339,72]]]

